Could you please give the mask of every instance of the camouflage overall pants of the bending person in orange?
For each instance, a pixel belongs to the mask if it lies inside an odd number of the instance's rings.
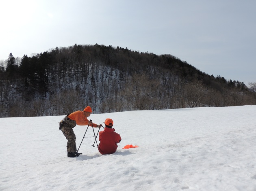
[[[74,134],[73,127],[76,126],[76,121],[71,119],[67,120],[67,116],[63,119],[63,126],[61,131],[67,139],[67,152],[76,152],[76,135]]]

